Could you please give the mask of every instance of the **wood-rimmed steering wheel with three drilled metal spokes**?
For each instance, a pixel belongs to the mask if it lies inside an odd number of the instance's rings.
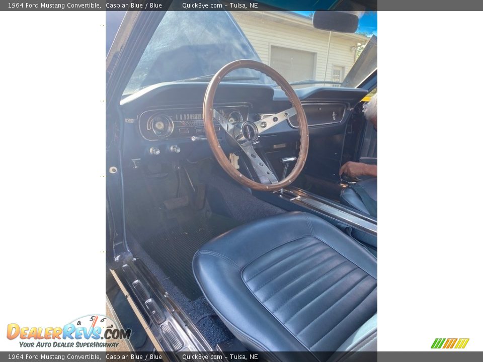
[[[221,79],[229,72],[240,68],[259,70],[271,77],[288,96],[288,99],[292,103],[293,107],[279,112],[273,116],[265,117],[264,119],[256,122],[247,120],[241,123],[241,125],[233,125],[228,122],[224,116],[213,108],[213,100],[215,98],[216,88],[218,87]],[[257,154],[253,147],[253,143],[256,142],[259,135],[263,134],[266,130],[279,124],[280,122],[286,121],[289,117],[293,117],[295,115],[297,115],[298,118],[300,131],[299,154],[292,172],[290,172],[284,179],[279,181],[277,176],[273,174],[272,170]],[[241,150],[245,152],[260,180],[260,183],[255,182],[254,180],[241,174],[225,156],[223,149],[218,142],[218,137],[216,136],[213,119],[219,123],[220,127],[226,132],[228,137],[236,142]],[[282,75],[268,65],[258,61],[247,59],[235,60],[218,70],[206,88],[205,98],[203,100],[203,123],[205,126],[206,138],[220,166],[241,185],[245,185],[251,189],[259,191],[276,191],[287,187],[300,174],[307,159],[308,126],[302,104],[300,103],[300,100],[298,99],[291,85]]]

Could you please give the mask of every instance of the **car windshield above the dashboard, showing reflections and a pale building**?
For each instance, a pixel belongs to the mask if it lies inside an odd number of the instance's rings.
[[[312,15],[311,12],[168,11],[141,56],[124,95],[162,82],[209,81],[223,65],[237,59],[268,64],[294,87],[314,84],[356,87],[377,69],[377,41],[364,57],[364,66],[354,66],[371,36],[377,35],[377,13],[360,13],[355,34],[315,29]],[[357,72],[351,72],[353,66]],[[251,69],[235,70],[224,80],[274,84],[268,76]]]

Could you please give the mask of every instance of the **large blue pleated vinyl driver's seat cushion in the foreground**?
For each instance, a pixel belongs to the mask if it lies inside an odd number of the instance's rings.
[[[324,220],[285,213],[204,245],[193,272],[251,350],[336,351],[377,312],[377,261]]]

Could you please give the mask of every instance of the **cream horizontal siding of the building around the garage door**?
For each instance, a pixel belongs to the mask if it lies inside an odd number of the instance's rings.
[[[355,46],[366,40],[361,35],[332,33],[326,74],[329,32],[314,29],[309,20],[301,20],[296,15],[287,16],[280,13],[272,15],[267,12],[232,12],[231,14],[265,64],[270,65],[271,46],[316,53],[315,79],[317,80],[332,80],[333,66],[343,67],[344,76],[347,75],[354,64]]]

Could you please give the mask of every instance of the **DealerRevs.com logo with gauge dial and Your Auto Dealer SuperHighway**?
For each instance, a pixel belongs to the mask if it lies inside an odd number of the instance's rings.
[[[63,327],[25,327],[17,323],[7,326],[7,338],[19,339],[21,347],[106,348],[117,347],[112,339],[129,339],[131,329],[118,328],[103,315],[74,319]]]

